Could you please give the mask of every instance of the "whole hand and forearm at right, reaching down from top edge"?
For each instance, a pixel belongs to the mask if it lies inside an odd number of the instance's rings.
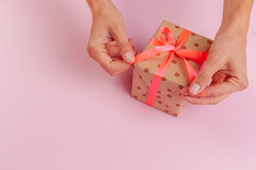
[[[218,104],[248,87],[246,37],[254,0],[224,0],[222,24],[202,71],[181,97],[191,104]],[[209,86],[209,82],[212,82]],[[199,93],[204,91],[205,96]]]

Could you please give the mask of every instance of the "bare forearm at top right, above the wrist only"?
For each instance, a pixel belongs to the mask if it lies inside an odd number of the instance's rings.
[[[220,29],[234,28],[247,34],[254,0],[224,0]]]

